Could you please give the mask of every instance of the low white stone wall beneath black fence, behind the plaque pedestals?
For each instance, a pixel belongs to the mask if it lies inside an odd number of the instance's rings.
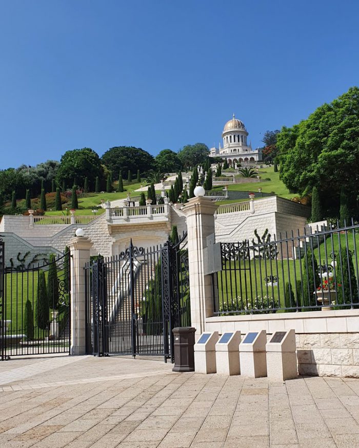
[[[359,378],[359,310],[218,316],[207,318],[206,331],[294,329],[300,375]]]

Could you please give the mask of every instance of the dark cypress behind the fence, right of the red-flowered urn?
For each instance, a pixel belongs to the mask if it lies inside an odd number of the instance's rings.
[[[350,250],[347,251],[346,247],[342,247],[341,256],[337,257],[337,259],[340,260],[340,258],[342,259],[342,268],[337,266],[335,270],[338,303],[351,303],[351,298],[353,303],[358,303],[359,297],[353,264],[353,252]],[[338,284],[341,286],[338,286]]]

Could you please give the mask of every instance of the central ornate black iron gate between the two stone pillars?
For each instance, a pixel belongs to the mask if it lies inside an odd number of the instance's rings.
[[[150,249],[132,245],[85,267],[87,353],[173,359],[175,326],[190,325],[187,235]]]

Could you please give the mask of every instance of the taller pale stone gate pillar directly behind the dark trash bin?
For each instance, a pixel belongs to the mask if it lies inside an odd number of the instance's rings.
[[[218,206],[207,197],[189,199],[182,209],[187,218],[191,325],[196,340],[206,331],[206,318],[213,315],[213,289],[210,275],[204,275],[204,248],[214,233],[214,213]]]

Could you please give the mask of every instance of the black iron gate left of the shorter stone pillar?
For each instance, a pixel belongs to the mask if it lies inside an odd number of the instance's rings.
[[[70,252],[46,254],[28,263],[4,261],[0,241],[0,354],[11,356],[70,352]]]

